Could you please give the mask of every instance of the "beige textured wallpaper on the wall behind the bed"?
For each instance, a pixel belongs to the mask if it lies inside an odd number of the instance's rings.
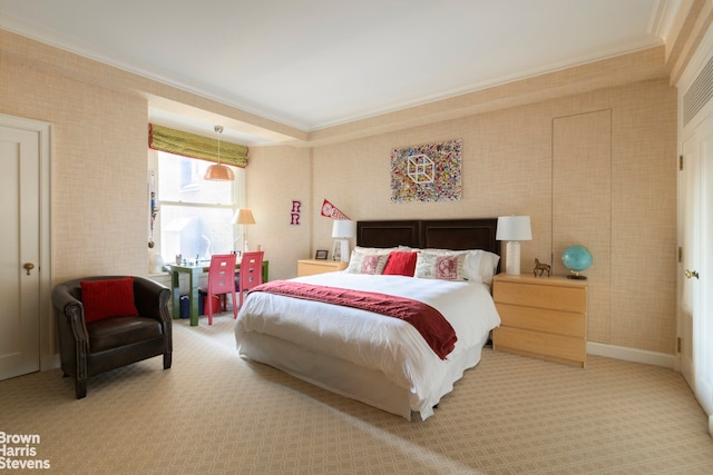
[[[390,150],[452,138],[462,200],[391,204]],[[673,354],[675,164],[675,89],[652,80],[315,148],[313,196],[353,219],[529,215],[522,273],[550,255],[563,273],[565,244],[592,247],[590,340]]]

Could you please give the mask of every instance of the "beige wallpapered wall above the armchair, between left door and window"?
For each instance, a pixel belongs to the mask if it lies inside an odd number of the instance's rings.
[[[0,55],[0,112],[52,125],[55,281],[145,274],[146,100],[16,59]]]

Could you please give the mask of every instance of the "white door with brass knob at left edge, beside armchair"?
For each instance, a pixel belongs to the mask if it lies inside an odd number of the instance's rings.
[[[0,125],[0,379],[40,369],[40,132]]]

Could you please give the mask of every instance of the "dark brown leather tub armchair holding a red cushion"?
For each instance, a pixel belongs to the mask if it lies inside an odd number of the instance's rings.
[[[167,287],[134,277],[138,316],[85,321],[80,283],[121,277],[84,277],[58,284],[52,289],[61,367],[65,376],[75,378],[77,399],[87,396],[87,379],[99,373],[158,355],[164,355],[164,369],[170,368],[173,339]]]

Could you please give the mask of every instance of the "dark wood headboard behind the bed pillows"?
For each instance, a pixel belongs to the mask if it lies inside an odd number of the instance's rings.
[[[484,249],[500,255],[498,218],[404,219],[356,222],[356,246]]]

